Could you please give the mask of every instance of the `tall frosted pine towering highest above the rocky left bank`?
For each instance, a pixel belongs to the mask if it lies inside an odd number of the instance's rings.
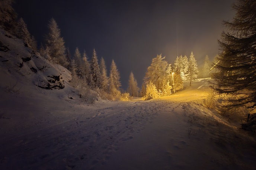
[[[46,36],[46,45],[50,48],[49,55],[53,63],[57,63],[67,67],[67,59],[65,58],[65,46],[63,37],[60,37],[60,29],[56,21],[52,18],[48,24],[49,33]]]

